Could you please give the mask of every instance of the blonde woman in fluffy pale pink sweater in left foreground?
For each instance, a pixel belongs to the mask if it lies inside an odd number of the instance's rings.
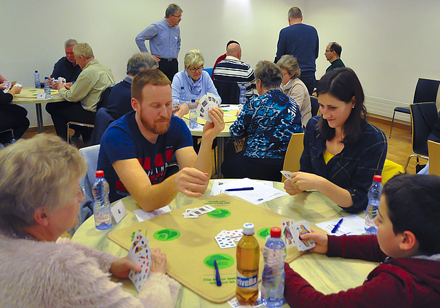
[[[87,165],[60,137],[36,135],[0,151],[0,307],[174,307],[179,284],[152,252],[137,298],[110,281],[141,268],[69,239]]]

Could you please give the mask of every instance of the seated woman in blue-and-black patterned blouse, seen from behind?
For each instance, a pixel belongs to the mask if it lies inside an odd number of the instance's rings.
[[[245,137],[240,153],[226,157],[221,171],[228,178],[281,181],[292,133],[302,133],[301,114],[293,98],[281,92],[283,73],[275,63],[260,61],[255,69],[258,97],[243,106],[230,127],[232,137]]]

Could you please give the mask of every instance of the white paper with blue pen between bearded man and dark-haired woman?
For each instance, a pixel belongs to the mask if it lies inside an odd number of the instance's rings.
[[[225,189],[243,187],[253,187],[254,190],[225,191]],[[240,197],[241,199],[245,199],[246,201],[254,204],[264,203],[287,195],[287,192],[273,188],[273,183],[271,187],[270,185],[265,185],[260,181],[254,181],[253,179],[248,178],[236,179],[234,181],[224,181],[221,179],[214,180],[210,195],[215,196],[222,193]]]

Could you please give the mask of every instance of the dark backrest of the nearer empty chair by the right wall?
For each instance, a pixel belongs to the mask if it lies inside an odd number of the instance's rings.
[[[435,102],[410,104],[412,126],[412,151],[419,155],[428,155],[428,135],[437,122]]]

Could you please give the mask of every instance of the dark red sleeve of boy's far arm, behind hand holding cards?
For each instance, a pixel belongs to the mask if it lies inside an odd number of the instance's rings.
[[[327,256],[341,256],[345,259],[360,259],[383,262],[386,254],[380,250],[375,235],[329,235]]]

